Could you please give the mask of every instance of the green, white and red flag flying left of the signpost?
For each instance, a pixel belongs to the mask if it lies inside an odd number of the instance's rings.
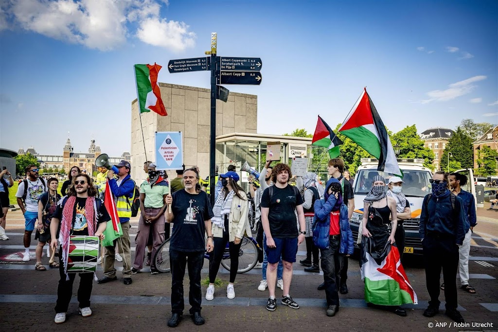
[[[157,74],[161,68],[156,63],[154,65],[135,65],[136,95],[138,96],[140,114],[152,110],[159,115],[168,115],[157,85]]]

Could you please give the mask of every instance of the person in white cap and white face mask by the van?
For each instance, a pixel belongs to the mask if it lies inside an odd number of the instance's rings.
[[[394,233],[394,240],[396,246],[399,250],[400,258],[403,258],[403,249],[405,242],[405,231],[403,228],[403,220],[411,218],[410,203],[401,192],[403,186],[403,180],[398,176],[391,176],[388,181],[388,191],[386,195],[392,197],[396,201],[396,217],[398,218],[398,224],[396,226],[396,232]]]

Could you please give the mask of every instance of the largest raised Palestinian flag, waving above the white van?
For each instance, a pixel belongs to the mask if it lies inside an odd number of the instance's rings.
[[[403,176],[384,122],[373,106],[366,88],[339,132],[377,158],[378,171]]]

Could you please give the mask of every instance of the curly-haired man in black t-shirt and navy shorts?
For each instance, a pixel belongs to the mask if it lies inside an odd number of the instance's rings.
[[[286,164],[277,164],[273,167],[271,179],[273,186],[266,188],[261,198],[261,221],[266,235],[266,255],[268,270],[269,299],[266,309],[276,309],[275,282],[277,265],[282,256],[283,263],[283,296],[281,303],[292,309],[299,309],[299,305],[289,295],[292,280],[292,263],[296,261],[297,246],[304,241],[306,225],[304,221],[303,199],[297,188],[288,184],[292,177],[290,167]],[[296,216],[299,220],[299,229],[296,225]]]

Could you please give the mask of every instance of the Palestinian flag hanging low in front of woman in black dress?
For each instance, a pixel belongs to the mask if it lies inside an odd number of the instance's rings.
[[[360,267],[365,282],[365,301],[381,306],[417,304],[417,294],[401,265],[398,248],[386,245],[381,252],[372,250],[372,237],[362,239]]]

